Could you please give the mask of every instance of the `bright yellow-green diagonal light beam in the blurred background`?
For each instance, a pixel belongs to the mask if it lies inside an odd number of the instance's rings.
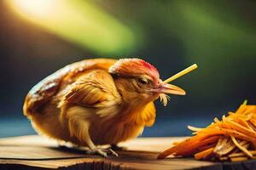
[[[96,54],[125,53],[137,42],[129,27],[83,0],[8,0],[7,3],[26,20]]]

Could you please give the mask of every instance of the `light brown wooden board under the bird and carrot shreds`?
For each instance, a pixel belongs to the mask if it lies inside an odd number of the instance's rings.
[[[157,160],[161,150],[183,138],[140,138],[120,144],[119,156],[87,156],[39,136],[0,139],[0,169],[256,169],[256,161],[210,162],[193,158]]]

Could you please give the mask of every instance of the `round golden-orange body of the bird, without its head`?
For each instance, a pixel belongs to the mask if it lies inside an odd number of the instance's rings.
[[[90,138],[95,144],[117,144],[137,137],[144,126],[153,125],[152,102],[132,107],[129,101],[124,103],[108,73],[115,62],[114,59],[87,59],[67,65],[32,88],[26,96],[24,113],[38,133],[86,146],[74,136],[81,133],[82,139],[83,133],[74,132],[77,129],[68,124],[74,122],[83,127],[84,122],[90,122]],[[81,91],[73,95],[76,90]],[[86,101],[83,103],[81,98]]]

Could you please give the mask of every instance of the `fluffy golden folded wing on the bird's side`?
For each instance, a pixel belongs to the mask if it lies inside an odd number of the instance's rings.
[[[80,77],[71,85],[68,93],[61,99],[59,107],[81,105],[96,108],[96,114],[113,114],[121,103],[121,97],[108,71],[95,70]]]

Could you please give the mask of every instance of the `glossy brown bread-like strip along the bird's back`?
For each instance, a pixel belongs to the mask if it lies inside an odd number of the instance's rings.
[[[59,93],[60,89],[76,81],[76,77],[92,69],[108,68],[116,62],[115,59],[84,59],[82,61],[67,65],[38,82],[26,95],[23,112],[26,116],[40,112],[42,106],[46,105]]]

